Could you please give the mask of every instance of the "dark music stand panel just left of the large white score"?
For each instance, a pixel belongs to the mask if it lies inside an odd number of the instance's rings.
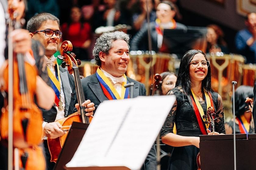
[[[54,170],[65,170],[64,166],[73,158],[88,126],[85,123],[72,123]]]

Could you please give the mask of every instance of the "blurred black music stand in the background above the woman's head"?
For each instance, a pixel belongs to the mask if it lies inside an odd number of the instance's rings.
[[[206,51],[206,27],[191,27],[188,29],[165,29],[160,52],[183,55],[191,49]]]

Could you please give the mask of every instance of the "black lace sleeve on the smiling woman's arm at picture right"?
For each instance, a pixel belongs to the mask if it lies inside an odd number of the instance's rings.
[[[223,107],[222,98],[219,94],[218,94],[218,105],[216,106],[215,113],[216,115],[219,115],[219,117],[215,122],[216,132],[226,134],[225,125],[224,125],[224,107]]]

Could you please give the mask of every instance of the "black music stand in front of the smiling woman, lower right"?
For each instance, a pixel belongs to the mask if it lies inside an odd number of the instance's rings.
[[[234,169],[234,135],[200,135],[202,170]],[[236,134],[236,168],[256,168],[256,134]]]

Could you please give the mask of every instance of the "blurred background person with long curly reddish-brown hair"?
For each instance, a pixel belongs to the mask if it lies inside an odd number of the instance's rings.
[[[216,52],[223,52],[229,53],[227,48],[227,43],[223,39],[224,33],[222,29],[215,24],[211,24],[207,26],[207,53],[216,53]]]

